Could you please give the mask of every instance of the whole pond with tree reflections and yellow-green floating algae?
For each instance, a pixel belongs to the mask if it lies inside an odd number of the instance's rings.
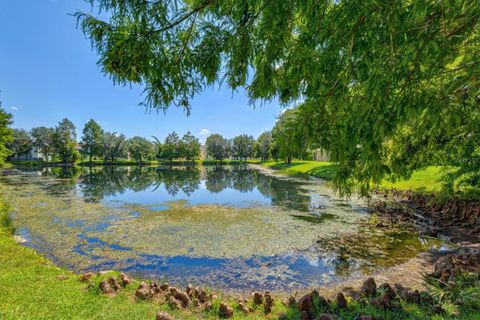
[[[43,168],[0,177],[17,239],[76,272],[288,290],[404,262],[437,241],[370,227],[359,199],[248,166]]]

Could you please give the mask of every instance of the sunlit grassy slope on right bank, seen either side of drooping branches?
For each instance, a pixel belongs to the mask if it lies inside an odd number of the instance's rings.
[[[286,164],[270,161],[261,164],[286,174],[308,174],[325,180],[332,180],[335,174],[335,165],[330,162],[293,161],[291,164]],[[438,192],[442,188],[440,181],[441,170],[442,167],[430,166],[424,170],[414,172],[408,180],[395,182],[385,180],[382,182],[381,187],[417,192]]]

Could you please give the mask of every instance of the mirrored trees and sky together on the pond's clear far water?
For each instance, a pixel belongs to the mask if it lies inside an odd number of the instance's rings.
[[[59,196],[79,191],[87,202],[115,198],[145,203],[145,197],[150,197],[157,203],[178,199],[218,203],[221,197],[220,203],[240,207],[263,203],[302,212],[312,209],[311,196],[302,189],[302,183],[264,175],[246,165],[53,167],[44,168],[39,174],[58,179],[58,183],[44,185],[48,194]],[[142,193],[143,198],[134,201]],[[241,201],[238,193],[244,194]]]

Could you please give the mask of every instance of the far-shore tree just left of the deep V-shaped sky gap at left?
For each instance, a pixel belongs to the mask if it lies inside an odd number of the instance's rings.
[[[80,158],[77,151],[77,133],[73,122],[65,118],[58,123],[53,134],[53,146],[62,162],[75,162]]]

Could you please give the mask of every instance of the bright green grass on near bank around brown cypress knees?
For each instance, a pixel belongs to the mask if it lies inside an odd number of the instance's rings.
[[[91,286],[78,280],[75,275],[55,266],[35,251],[23,247],[13,239],[13,228],[8,219],[8,206],[0,198],[0,319],[155,319],[155,314],[167,311],[175,319],[218,319],[220,300],[234,306],[234,319],[278,319],[284,313],[288,319],[300,319],[296,308],[289,308],[275,298],[272,314],[265,316],[262,308],[244,315],[236,309],[232,298],[219,295],[211,311],[171,310],[158,302],[139,302],[134,298],[138,282],[122,289],[114,297],[98,292],[101,280],[118,275],[112,271],[97,275]],[[65,280],[59,277],[65,276]],[[223,297],[223,298],[222,298]],[[252,306],[250,300],[249,305]],[[461,311],[460,316],[453,316]],[[471,309],[459,310],[453,306],[443,316],[433,316],[431,306],[402,303],[402,308],[385,310],[371,305],[350,301],[348,309],[338,313],[334,304],[327,309],[317,306],[317,315],[337,313],[341,319],[354,319],[358,315],[372,315],[385,320],[393,319],[471,319],[480,320],[480,315]],[[338,318],[338,316],[336,316]],[[339,318],[340,319],[340,318]]]

